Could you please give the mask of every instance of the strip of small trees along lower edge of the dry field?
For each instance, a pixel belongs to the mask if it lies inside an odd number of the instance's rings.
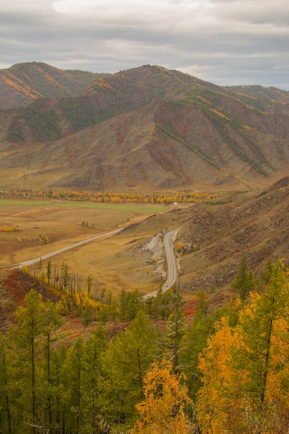
[[[151,319],[166,320],[174,309],[176,295],[173,288],[164,293],[160,287],[156,297],[144,299],[138,289],[122,289],[119,295],[114,295],[112,290],[100,286],[93,276],[83,279],[81,275],[69,272],[65,262],[60,267],[53,266],[51,261],[44,266],[40,259],[31,270],[26,268],[24,271],[40,279],[42,287],[56,290],[64,304],[67,298],[73,300],[78,315],[85,316],[85,322],[88,318],[89,322],[128,322],[134,320],[139,310],[143,310]],[[67,306],[66,309],[73,309],[73,306]]]

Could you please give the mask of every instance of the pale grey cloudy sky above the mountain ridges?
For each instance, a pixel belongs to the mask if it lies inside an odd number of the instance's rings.
[[[288,0],[8,0],[0,21],[0,69],[157,64],[216,85],[289,90]]]

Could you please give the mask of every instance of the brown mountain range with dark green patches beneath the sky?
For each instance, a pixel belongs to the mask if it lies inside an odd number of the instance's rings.
[[[28,64],[44,71],[41,96],[1,110],[0,188],[251,189],[289,172],[289,92],[150,65],[102,76],[41,65]]]

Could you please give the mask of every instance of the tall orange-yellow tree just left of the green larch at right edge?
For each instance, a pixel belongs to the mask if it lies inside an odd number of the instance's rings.
[[[239,346],[227,318],[222,318],[200,354],[199,367],[204,376],[198,399],[198,422],[202,433],[239,432],[243,406],[240,386],[246,375],[238,372],[236,376],[230,363],[231,347]]]

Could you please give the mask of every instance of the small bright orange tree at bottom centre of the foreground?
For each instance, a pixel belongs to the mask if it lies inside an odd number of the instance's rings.
[[[193,428],[184,412],[191,403],[187,388],[173,373],[169,361],[155,361],[143,379],[144,399],[137,404],[139,420],[131,434],[192,433]]]

